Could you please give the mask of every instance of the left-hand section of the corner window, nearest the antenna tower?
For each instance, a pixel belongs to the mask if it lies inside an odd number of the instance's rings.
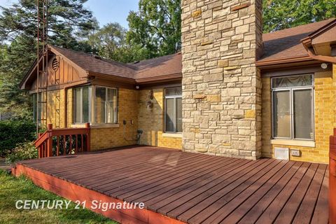
[[[90,87],[73,89],[73,123],[90,122]]]

